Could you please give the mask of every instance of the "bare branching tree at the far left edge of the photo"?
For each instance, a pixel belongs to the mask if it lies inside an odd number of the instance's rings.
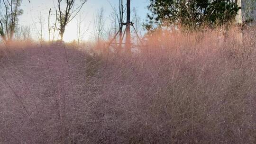
[[[18,16],[23,14],[20,9],[22,0],[2,0],[5,14],[0,19],[0,35],[7,42],[14,37],[16,27],[18,26]]]

